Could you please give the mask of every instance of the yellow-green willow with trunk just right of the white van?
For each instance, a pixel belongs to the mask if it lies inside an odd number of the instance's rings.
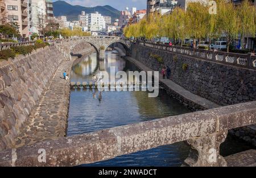
[[[229,52],[229,46],[234,39],[238,38],[240,29],[238,9],[234,7],[232,2],[220,0],[218,1],[217,11],[217,26],[222,34],[226,36],[227,51]]]

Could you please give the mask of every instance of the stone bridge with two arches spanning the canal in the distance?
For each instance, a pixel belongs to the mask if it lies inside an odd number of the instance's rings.
[[[104,59],[105,50],[114,43],[121,44],[126,49],[126,55],[131,55],[131,42],[118,36],[82,36],[61,40],[58,46],[68,56],[69,54],[82,54],[88,43],[94,47],[100,59]]]

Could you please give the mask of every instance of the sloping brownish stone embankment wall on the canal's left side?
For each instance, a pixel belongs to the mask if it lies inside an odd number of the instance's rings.
[[[51,46],[0,63],[0,150],[15,144],[20,128],[63,59]]]

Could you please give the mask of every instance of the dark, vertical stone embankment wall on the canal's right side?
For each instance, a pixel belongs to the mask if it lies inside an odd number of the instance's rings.
[[[162,57],[162,64],[154,58],[155,55]],[[133,45],[132,57],[155,71],[169,66],[172,81],[218,105],[256,100],[255,70],[176,55],[138,44]]]

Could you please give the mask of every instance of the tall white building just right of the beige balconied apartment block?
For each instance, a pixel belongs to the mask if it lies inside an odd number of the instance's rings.
[[[42,22],[46,22],[47,13],[46,13],[46,1],[42,0],[28,0],[29,8],[29,31],[32,33],[39,33],[39,23],[40,19],[43,19]]]

